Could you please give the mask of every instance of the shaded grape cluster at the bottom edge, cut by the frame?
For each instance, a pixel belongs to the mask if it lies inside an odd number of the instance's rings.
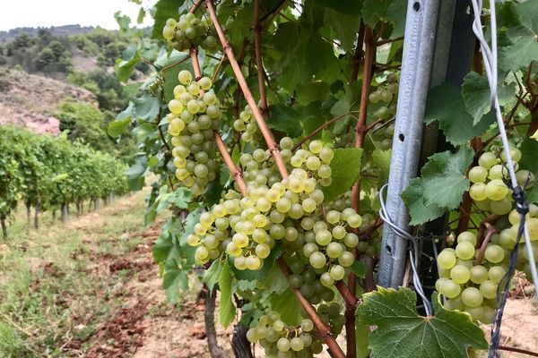
[[[308,358],[323,350],[318,338],[310,333],[313,329],[312,320],[288,326],[277,312],[271,311],[260,317],[256,327],[248,329],[247,339],[261,345],[267,358]]]

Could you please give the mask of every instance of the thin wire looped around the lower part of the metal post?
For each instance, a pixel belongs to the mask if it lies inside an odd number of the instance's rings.
[[[386,225],[388,225],[398,236],[409,240],[412,243],[412,247],[410,247],[409,250],[409,262],[411,263],[412,268],[412,283],[415,287],[415,291],[417,294],[421,296],[422,303],[424,303],[424,311],[426,311],[427,316],[433,315],[433,310],[431,309],[431,303],[426,294],[424,294],[424,289],[422,288],[421,284],[421,277],[419,277],[419,255],[420,255],[420,248],[419,248],[419,240],[422,239],[422,237],[416,237],[412,234],[406,233],[403,229],[396,226],[391,218],[389,217],[388,213],[386,212],[386,205],[385,205],[385,198],[384,198],[384,192],[388,184],[385,184],[381,187],[379,190],[379,201],[381,203],[381,209],[379,209],[379,217],[385,222]]]

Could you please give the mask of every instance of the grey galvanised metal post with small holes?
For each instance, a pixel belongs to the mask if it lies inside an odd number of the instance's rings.
[[[400,193],[417,175],[439,8],[439,0],[410,1],[407,6],[395,138],[386,194],[388,216],[407,232],[409,213]],[[383,230],[378,285],[397,287],[402,284],[407,244],[392,230]]]

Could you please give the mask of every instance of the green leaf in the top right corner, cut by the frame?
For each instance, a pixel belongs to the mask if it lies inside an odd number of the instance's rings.
[[[517,71],[538,59],[538,7],[536,2],[499,5],[499,68]]]

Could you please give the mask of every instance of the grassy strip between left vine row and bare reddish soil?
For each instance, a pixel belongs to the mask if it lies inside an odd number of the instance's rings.
[[[63,346],[84,341],[108,318],[129,273],[109,275],[103,259],[143,243],[144,196],[65,223],[42,215],[39,230],[28,234],[19,210],[0,245],[0,357],[63,357]]]

